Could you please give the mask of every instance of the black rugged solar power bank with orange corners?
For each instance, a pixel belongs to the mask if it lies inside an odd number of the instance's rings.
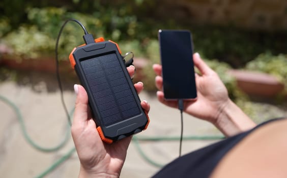
[[[97,130],[104,142],[112,143],[147,129],[148,114],[123,62],[117,43],[95,43],[73,49],[70,62],[88,93]]]

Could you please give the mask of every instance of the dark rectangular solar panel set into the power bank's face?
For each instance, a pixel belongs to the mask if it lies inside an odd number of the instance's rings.
[[[136,100],[115,53],[80,62],[104,126],[140,114]]]

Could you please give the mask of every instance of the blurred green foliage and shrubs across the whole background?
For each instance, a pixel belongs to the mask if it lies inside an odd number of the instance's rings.
[[[238,104],[243,103],[243,108],[250,110],[248,97],[238,90],[234,78],[226,75],[229,69],[272,74],[285,84],[284,92],[287,91],[286,29],[270,31],[246,29],[233,23],[193,23],[192,18],[173,18],[170,12],[160,14],[158,9],[162,10],[164,3],[153,0],[2,0],[0,44],[13,50],[8,55],[11,60],[53,57],[61,25],[66,19],[75,18],[95,38],[116,41],[123,52],[132,51],[135,57],[147,58],[148,65],[143,69],[146,77],[142,80],[146,90],[154,91],[155,75],[151,65],[159,63],[158,29],[189,29],[194,51],[219,74],[231,98]],[[83,43],[82,35],[78,24],[66,26],[60,40],[61,60],[68,60],[70,51]]]

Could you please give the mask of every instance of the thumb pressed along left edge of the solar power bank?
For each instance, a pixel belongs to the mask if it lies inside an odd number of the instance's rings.
[[[81,126],[88,121],[88,94],[81,85],[74,85],[77,94],[73,125]]]

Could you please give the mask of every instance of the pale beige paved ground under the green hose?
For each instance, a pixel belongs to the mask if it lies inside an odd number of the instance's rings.
[[[65,101],[69,110],[74,106],[75,94],[72,82],[64,86]],[[67,133],[67,119],[61,105],[60,92],[54,75],[29,73],[15,82],[0,83],[0,95],[13,102],[23,115],[27,134],[43,147],[59,144]],[[148,130],[137,136],[179,136],[180,112],[160,104],[154,94],[142,92],[141,100],[151,105],[151,123]],[[67,154],[74,145],[68,130],[69,140],[58,151],[42,152],[32,147],[24,138],[15,111],[0,101],[0,175],[1,177],[35,177]],[[184,115],[184,135],[220,135],[209,123]],[[214,140],[213,140],[214,141]],[[213,141],[183,142],[183,154],[198,149]],[[154,162],[166,164],[178,157],[179,141],[140,141],[142,151]],[[136,149],[134,141],[129,146],[121,177],[150,177],[159,170],[147,162]],[[45,177],[77,177],[79,161],[76,153]]]

